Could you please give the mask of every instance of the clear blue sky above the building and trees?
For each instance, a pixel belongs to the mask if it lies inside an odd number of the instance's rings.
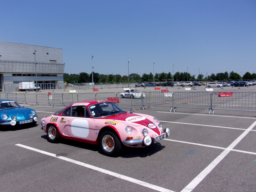
[[[0,41],[61,48],[65,73],[256,73],[255,0],[1,0]],[[91,56],[94,56],[91,60]]]

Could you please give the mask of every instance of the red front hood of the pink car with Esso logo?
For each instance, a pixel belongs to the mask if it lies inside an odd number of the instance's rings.
[[[149,118],[145,116],[141,116],[140,114],[137,114],[137,113],[123,113],[123,114],[117,114],[115,116],[108,116],[108,120],[131,124],[134,127],[144,126],[145,128],[150,128],[151,130],[156,132],[158,135],[161,134],[157,124],[154,122],[153,119],[150,120]]]

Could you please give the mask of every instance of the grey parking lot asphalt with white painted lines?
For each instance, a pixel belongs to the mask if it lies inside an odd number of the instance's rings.
[[[256,86],[215,90],[245,92],[255,91]],[[208,109],[179,108],[174,113],[163,107],[135,108],[134,113],[158,118],[170,129],[170,136],[154,146],[124,148],[120,156],[108,157],[99,146],[70,140],[58,144],[47,141],[40,119],[63,107],[25,106],[36,110],[38,124],[0,131],[1,192],[256,191],[255,111],[218,110],[209,115]]]

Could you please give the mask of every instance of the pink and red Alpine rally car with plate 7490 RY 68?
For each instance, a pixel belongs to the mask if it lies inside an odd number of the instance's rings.
[[[70,104],[41,119],[48,140],[61,138],[100,144],[103,153],[115,156],[123,145],[147,147],[170,135],[168,128],[153,116],[124,111],[107,100],[89,100]]]

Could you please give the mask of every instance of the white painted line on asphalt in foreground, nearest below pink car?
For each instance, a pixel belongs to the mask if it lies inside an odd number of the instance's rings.
[[[101,169],[99,167],[96,167],[96,166],[93,166],[93,165],[90,165],[90,164],[85,164],[83,162],[80,162],[80,161],[76,161],[76,160],[73,160],[73,159],[70,159],[70,158],[67,158],[67,157],[63,157],[63,156],[57,156],[56,154],[53,154],[53,153],[49,153],[49,152],[46,152],[46,151],[42,151],[42,150],[39,150],[39,149],[36,149],[36,148],[32,148],[32,147],[28,147],[26,145],[21,145],[21,144],[16,144],[17,146],[20,146],[20,147],[23,147],[23,148],[26,148],[26,149],[29,149],[29,150],[32,150],[32,151],[36,151],[38,153],[42,153],[42,154],[45,154],[45,155],[48,155],[48,156],[52,156],[52,157],[55,157],[55,158],[58,158],[58,159],[62,159],[64,161],[68,161],[70,163],[74,163],[74,164],[78,164],[78,165],[81,165],[81,166],[84,166],[84,167],[87,167],[89,169],[93,169],[95,171],[99,171],[99,172],[102,172],[102,173],[105,173],[105,174],[108,174],[108,175],[111,175],[111,176],[114,176],[114,177],[117,177],[119,179],[123,179],[123,180],[127,180],[127,181],[130,181],[132,183],[135,183],[135,184],[138,184],[138,185],[142,185],[144,187],[147,187],[147,188],[151,188],[151,189],[154,189],[156,191],[161,191],[161,192],[174,192],[174,191],[171,191],[169,189],[166,189],[166,188],[162,188],[162,187],[159,187],[159,186],[156,186],[156,185],[152,185],[150,183],[147,183],[147,182],[144,182],[144,181],[140,181],[140,180],[137,180],[137,179],[133,179],[131,177],[127,177],[127,176],[124,176],[124,175],[121,175],[119,173],[115,173],[115,172],[111,172],[111,171],[108,171],[108,170],[105,170],[105,169]]]

